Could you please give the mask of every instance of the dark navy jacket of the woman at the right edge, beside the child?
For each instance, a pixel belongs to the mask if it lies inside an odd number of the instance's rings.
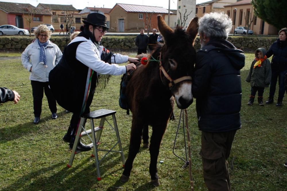
[[[280,41],[278,38],[266,52],[266,56],[272,56],[272,70],[287,70],[287,40]]]

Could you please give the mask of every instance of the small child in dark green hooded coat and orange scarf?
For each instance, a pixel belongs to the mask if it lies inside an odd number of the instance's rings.
[[[252,105],[256,92],[258,91],[258,103],[263,106],[263,92],[264,88],[268,88],[271,81],[271,64],[270,61],[264,56],[266,53],[265,48],[258,48],[255,51],[255,59],[251,63],[248,73],[247,82],[251,85],[251,94],[248,105]]]

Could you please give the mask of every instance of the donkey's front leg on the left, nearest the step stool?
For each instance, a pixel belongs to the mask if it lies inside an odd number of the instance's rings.
[[[122,182],[127,182],[131,174],[131,169],[133,168],[133,160],[139,152],[139,147],[141,145],[141,132],[143,130],[142,123],[138,123],[133,120],[131,125],[131,139],[129,144],[129,155],[125,162],[125,170],[121,176]]]

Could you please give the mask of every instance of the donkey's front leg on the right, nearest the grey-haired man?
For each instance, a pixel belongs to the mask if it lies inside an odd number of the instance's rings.
[[[158,161],[158,154],[160,151],[160,143],[166,130],[166,125],[167,123],[164,123],[157,125],[156,127],[152,127],[152,137],[150,139],[150,176],[152,179],[152,184],[154,186],[160,185],[156,165]]]

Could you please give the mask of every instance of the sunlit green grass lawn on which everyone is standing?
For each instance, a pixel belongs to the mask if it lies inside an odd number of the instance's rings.
[[[242,129],[238,130],[230,157],[230,178],[233,190],[286,190],[287,168],[287,101],[282,107],[275,104],[247,106],[250,84],[245,82],[254,54],[246,55],[246,65],[241,71],[242,80]],[[11,56],[9,58],[8,56]],[[133,165],[130,180],[119,181],[123,172],[120,155],[109,154],[100,164],[102,180],[96,180],[92,151],[75,156],[73,166],[67,168],[70,152],[62,141],[67,131],[71,113],[58,106],[58,119],[52,120],[46,97],[43,98],[41,121],[32,123],[33,98],[29,73],[22,67],[20,54],[0,53],[0,86],[16,90],[21,100],[0,105],[0,190],[190,190],[188,169],[172,153],[174,136],[179,122],[179,109],[175,121],[168,124],[158,161],[161,186],[151,186],[148,172],[148,149],[140,149]],[[134,56],[134,55],[133,55]],[[131,116],[118,105],[121,76],[113,76],[106,89],[94,96],[91,111],[110,109],[117,111],[116,118],[122,145],[127,158]],[[269,90],[265,89],[264,101]],[[278,90],[275,97],[277,98]],[[68,95],[67,95],[68,96]],[[69,95],[72,96],[72,95]],[[72,103],[71,103],[72,104]],[[207,190],[202,176],[200,151],[201,132],[197,128],[195,103],[188,108],[191,133],[192,173],[195,190]],[[111,118],[108,118],[110,122]],[[99,123],[98,121],[96,123]],[[87,124],[88,125],[88,124]],[[103,131],[101,148],[115,142],[113,132]],[[88,143],[88,140],[84,142]],[[183,133],[179,133],[175,152],[183,155]],[[104,153],[100,152],[100,156]],[[232,168],[231,168],[232,167]]]

